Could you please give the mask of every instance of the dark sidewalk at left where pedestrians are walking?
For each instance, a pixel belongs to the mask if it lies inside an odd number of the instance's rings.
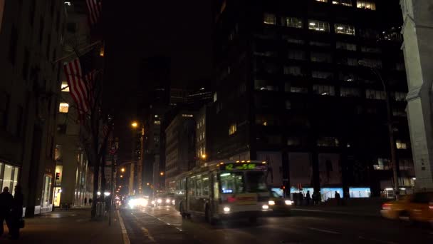
[[[123,244],[122,229],[115,212],[108,226],[108,217],[90,220],[90,208],[58,210],[35,218],[26,218],[20,240],[7,238],[7,227],[0,243],[104,243]]]

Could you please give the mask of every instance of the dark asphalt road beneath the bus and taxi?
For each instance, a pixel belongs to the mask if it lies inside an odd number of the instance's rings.
[[[291,216],[209,225],[172,207],[121,210],[130,243],[433,243],[433,230],[382,218],[292,211]]]

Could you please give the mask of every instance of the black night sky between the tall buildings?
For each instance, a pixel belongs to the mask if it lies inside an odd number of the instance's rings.
[[[171,59],[172,86],[211,76],[211,0],[105,1],[104,106],[115,113],[115,133],[126,149],[137,119],[140,60]],[[121,4],[120,4],[121,3]],[[125,140],[125,141],[124,141]],[[130,142],[129,142],[130,143]],[[129,149],[130,150],[130,149]],[[125,151],[125,154],[127,151]]]

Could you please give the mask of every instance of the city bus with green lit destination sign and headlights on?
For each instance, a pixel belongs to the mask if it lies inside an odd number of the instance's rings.
[[[255,222],[270,210],[267,171],[264,161],[204,163],[177,176],[168,186],[182,218],[202,215],[211,224],[236,218]]]

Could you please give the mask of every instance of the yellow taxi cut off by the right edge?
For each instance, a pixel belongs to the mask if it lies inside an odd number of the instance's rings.
[[[384,203],[380,213],[392,220],[433,223],[433,193],[420,192]]]

